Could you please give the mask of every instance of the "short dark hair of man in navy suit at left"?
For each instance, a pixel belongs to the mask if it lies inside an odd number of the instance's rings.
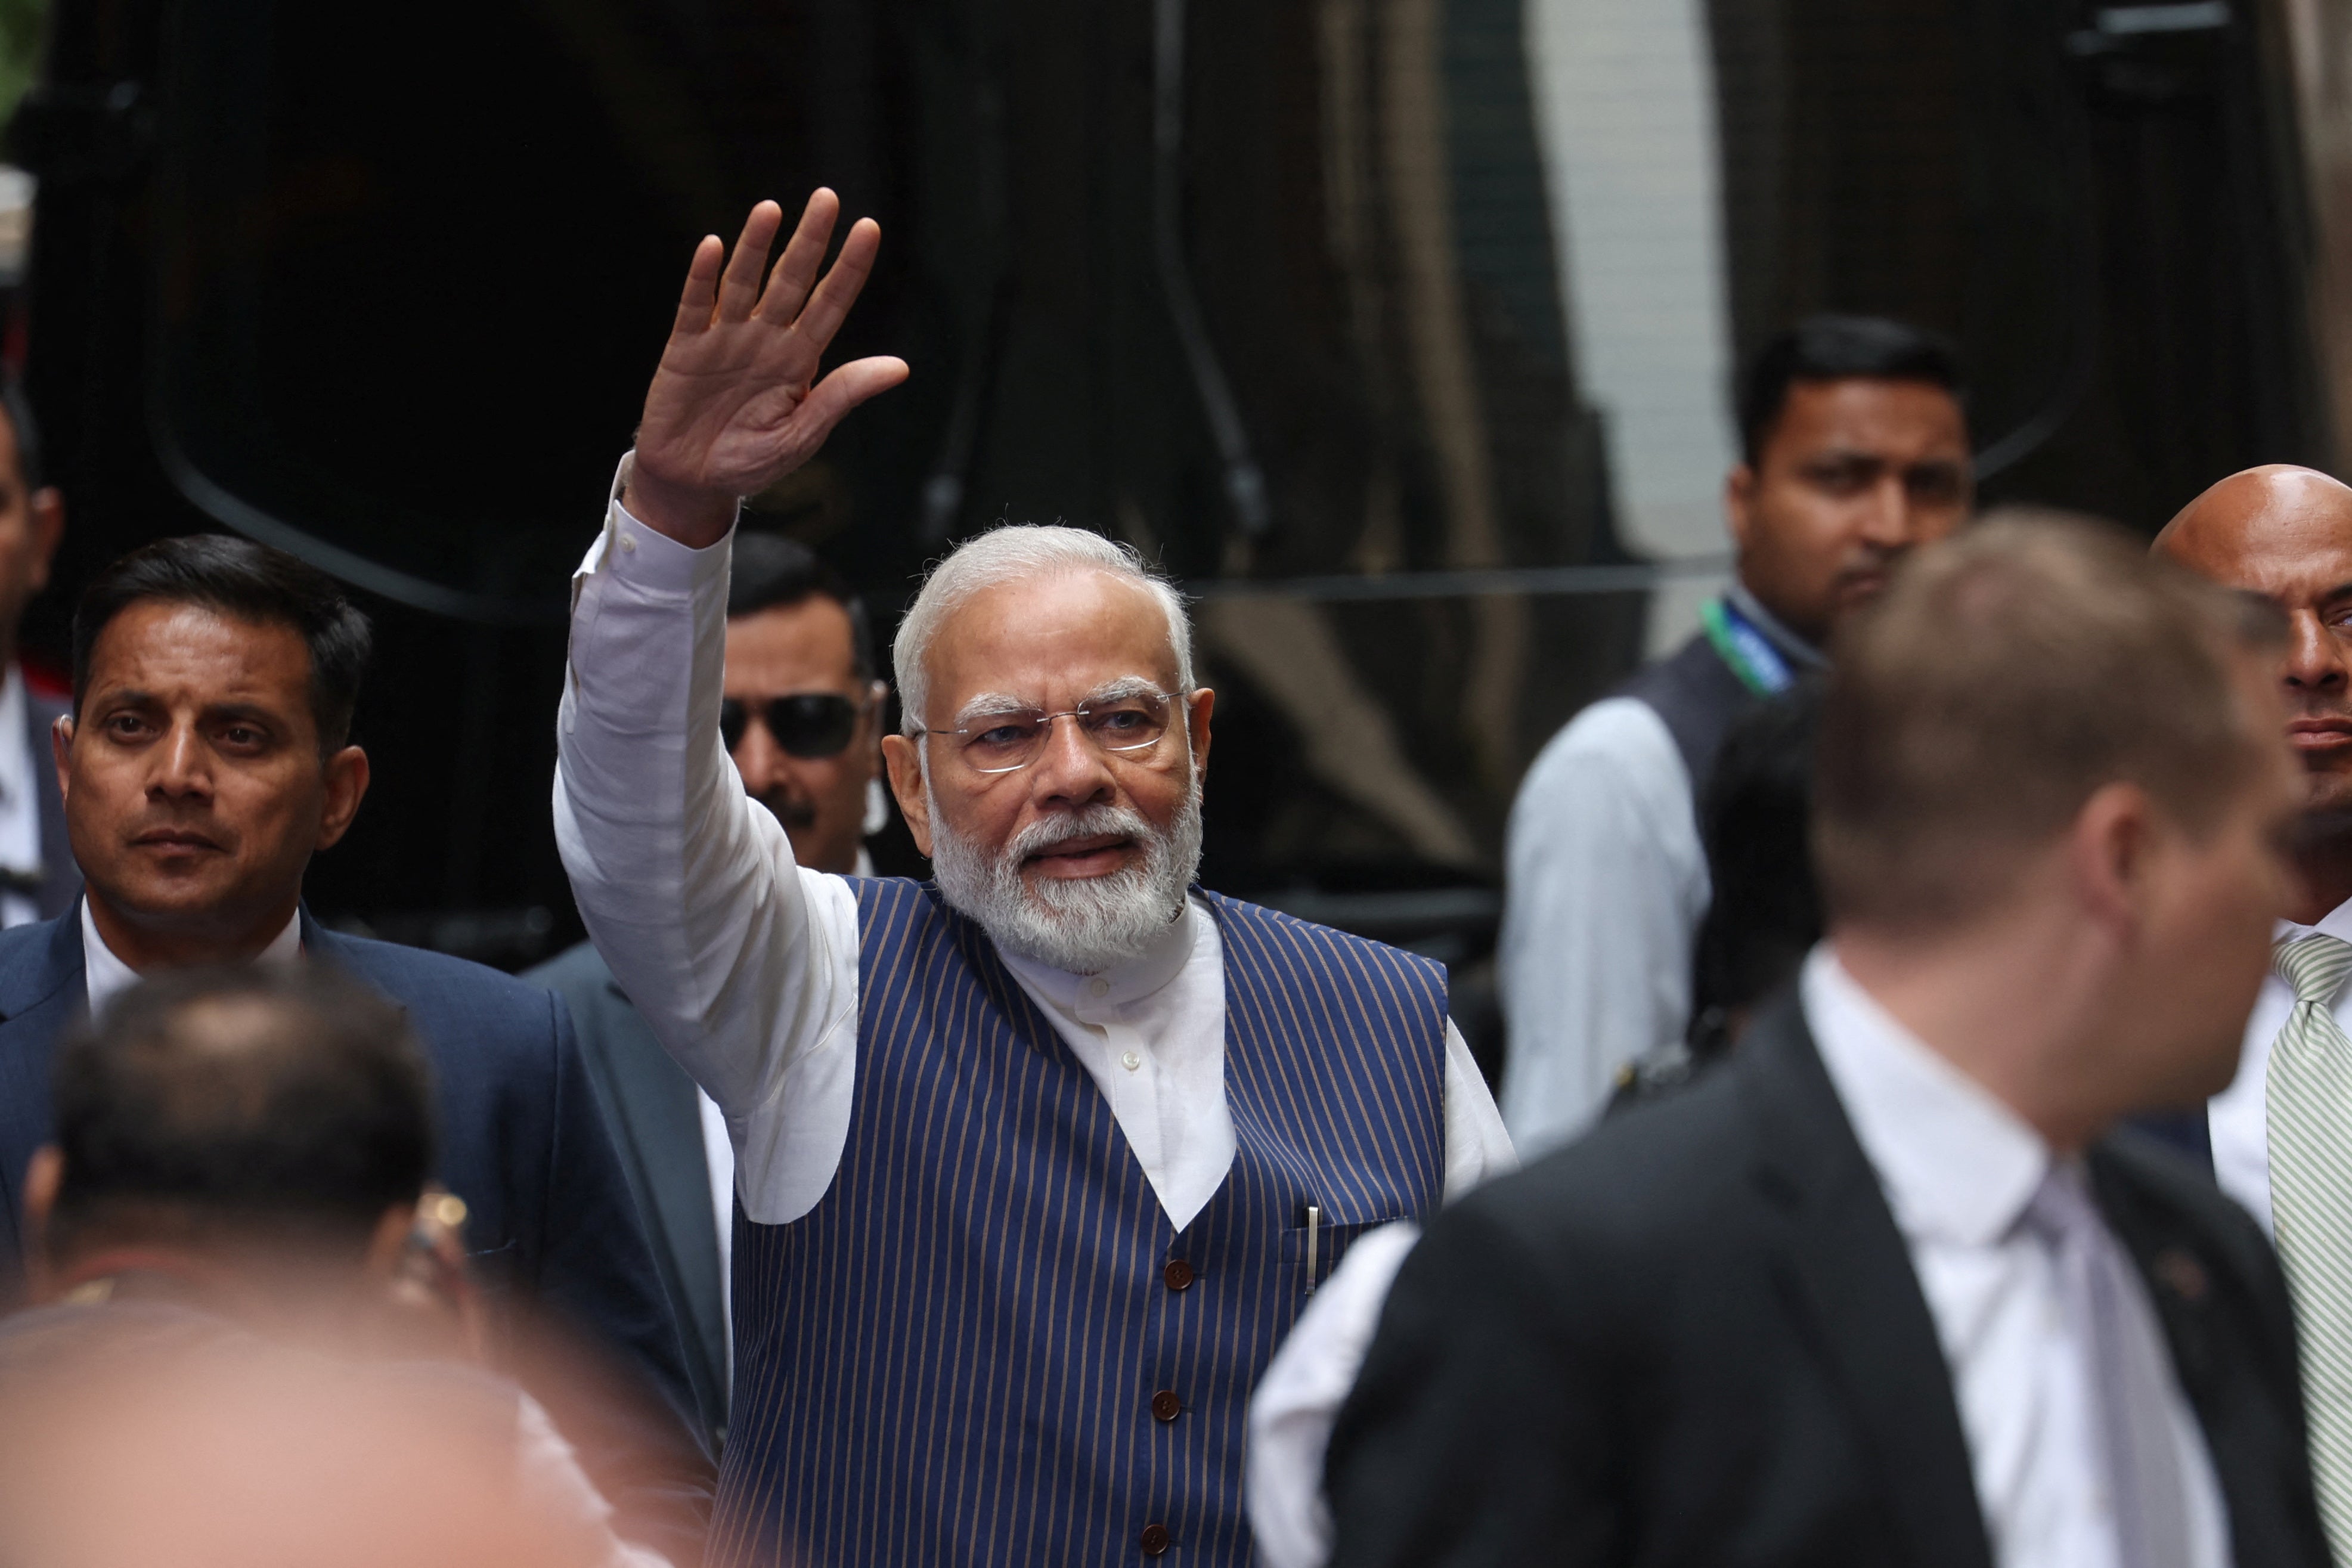
[[[367,616],[343,588],[285,550],[228,534],[158,538],[106,567],[73,609],[73,715],[89,691],[89,654],[115,616],[132,604],[200,604],[254,625],[287,625],[310,649],[310,717],[320,752],[350,738],[374,637]]]

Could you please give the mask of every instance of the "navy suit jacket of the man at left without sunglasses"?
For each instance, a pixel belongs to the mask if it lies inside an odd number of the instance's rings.
[[[534,1378],[635,1540],[699,1556],[710,1460],[661,1276],[562,1001],[480,964],[341,936],[303,912],[303,952],[397,1001],[433,1063],[440,1180],[494,1305],[536,1309],[616,1359],[616,1375]],[[21,1286],[24,1171],[49,1140],[49,1063],[89,1006],[80,905],[0,931],[0,1284]]]

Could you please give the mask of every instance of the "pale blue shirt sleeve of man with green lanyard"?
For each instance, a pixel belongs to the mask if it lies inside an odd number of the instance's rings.
[[[1510,811],[1505,882],[1503,1121],[1534,1159],[1691,1016],[1708,860],[1689,769],[1646,703],[1595,703],[1543,748]]]

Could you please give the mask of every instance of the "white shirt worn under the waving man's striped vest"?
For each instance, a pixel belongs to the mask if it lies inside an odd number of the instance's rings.
[[[793,863],[720,745],[731,538],[687,550],[614,491],[572,581],[555,842],[597,950],[720,1105],[743,1213],[786,1225],[833,1185],[849,1138],[856,896]],[[1216,922],[1188,903],[1150,952],[1101,976],[1007,969],[1110,1100],[1169,1220],[1188,1225],[1235,1147]],[[1451,1023],[1444,1128],[1449,1194],[1515,1164]]]

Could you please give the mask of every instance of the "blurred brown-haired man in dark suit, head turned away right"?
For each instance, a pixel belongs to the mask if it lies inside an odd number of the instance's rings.
[[[2110,1133],[2230,1079],[2277,637],[2086,524],[1907,564],[1830,675],[1828,943],[1726,1067],[1437,1218],[1334,1561],[2326,1563],[2277,1262]]]

